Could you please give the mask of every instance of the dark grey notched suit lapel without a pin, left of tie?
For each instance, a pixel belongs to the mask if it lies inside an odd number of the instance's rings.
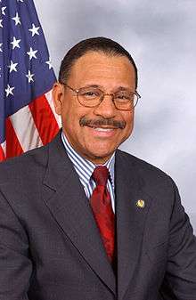
[[[43,199],[62,231],[86,263],[115,294],[115,276],[102,245],[85,191],[63,145],[60,134],[49,145]]]

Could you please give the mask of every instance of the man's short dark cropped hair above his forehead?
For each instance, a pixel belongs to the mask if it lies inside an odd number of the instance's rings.
[[[74,63],[88,52],[101,52],[110,56],[126,56],[135,69],[135,87],[137,87],[137,68],[130,53],[117,42],[106,37],[87,38],[74,45],[61,61],[59,82],[67,83]]]

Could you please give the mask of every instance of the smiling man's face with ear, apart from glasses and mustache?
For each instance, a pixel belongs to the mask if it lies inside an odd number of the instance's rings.
[[[88,52],[73,65],[67,84],[76,90],[97,85],[104,93],[115,93],[121,88],[135,92],[135,69],[125,56]],[[69,143],[94,164],[105,163],[133,130],[134,110],[116,109],[110,95],[96,107],[87,108],[78,102],[77,93],[57,83],[53,86],[53,99]],[[83,118],[100,120],[100,125],[82,126]],[[125,122],[125,127],[102,125],[103,119],[110,119],[110,124],[113,120]]]

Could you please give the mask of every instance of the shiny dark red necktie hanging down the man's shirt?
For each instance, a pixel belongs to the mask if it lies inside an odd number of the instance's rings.
[[[92,177],[96,183],[96,187],[91,196],[90,203],[94,219],[101,233],[103,245],[110,263],[112,263],[115,246],[115,217],[111,207],[110,193],[107,190],[109,170],[106,166],[96,166]]]

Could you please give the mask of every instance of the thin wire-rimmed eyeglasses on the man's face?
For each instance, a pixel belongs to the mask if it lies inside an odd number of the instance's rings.
[[[139,93],[127,90],[121,90],[116,93],[103,93],[101,89],[94,86],[81,87],[75,90],[67,84],[63,83],[62,85],[66,85],[71,91],[77,93],[78,102],[87,108],[94,108],[103,101],[104,96],[111,96],[116,109],[132,110],[141,98]]]

